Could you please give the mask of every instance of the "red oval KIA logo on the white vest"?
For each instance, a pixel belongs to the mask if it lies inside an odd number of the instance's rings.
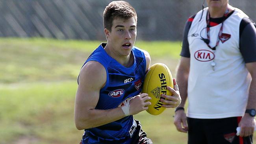
[[[198,50],[194,56],[198,61],[211,61],[215,57],[214,53],[210,50]]]

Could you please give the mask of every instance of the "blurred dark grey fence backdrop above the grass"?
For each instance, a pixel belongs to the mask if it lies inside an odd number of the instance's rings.
[[[138,15],[138,40],[182,40],[203,0],[127,0]],[[0,0],[0,37],[105,40],[102,13],[111,0]],[[255,0],[230,0],[253,20]],[[206,4],[205,4],[206,6]]]

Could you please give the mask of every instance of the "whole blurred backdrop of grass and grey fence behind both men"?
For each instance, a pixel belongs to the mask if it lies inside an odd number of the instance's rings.
[[[127,0],[137,11],[135,46],[176,76],[183,28],[203,0]],[[77,76],[106,42],[102,13],[111,0],[0,0],[0,144],[79,144],[74,125]],[[230,0],[256,20],[255,0]],[[206,6],[206,4],[205,4]],[[186,144],[174,109],[141,112],[154,144]],[[256,140],[254,136],[254,141]]]

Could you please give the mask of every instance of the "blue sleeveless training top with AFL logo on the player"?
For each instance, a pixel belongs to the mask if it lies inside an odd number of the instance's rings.
[[[113,109],[119,107],[127,98],[138,95],[141,92],[146,71],[145,55],[139,48],[132,48],[133,55],[131,56],[134,56],[134,64],[126,68],[106,53],[105,46],[106,43],[100,44],[85,61],[85,63],[98,61],[106,68],[107,72],[106,85],[100,90],[100,97],[95,109]],[[94,140],[90,136],[103,140],[130,138],[129,130],[133,121],[133,116],[126,116],[103,126],[85,129],[83,141],[93,143]]]

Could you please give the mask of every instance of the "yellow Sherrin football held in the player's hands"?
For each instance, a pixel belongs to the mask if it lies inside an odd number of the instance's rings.
[[[152,98],[149,101],[151,105],[148,105],[148,113],[158,115],[165,110],[165,107],[162,107],[164,103],[160,101],[160,98],[161,94],[172,95],[167,90],[167,86],[173,88],[173,76],[168,66],[163,63],[155,63],[150,66],[141,91]]]

